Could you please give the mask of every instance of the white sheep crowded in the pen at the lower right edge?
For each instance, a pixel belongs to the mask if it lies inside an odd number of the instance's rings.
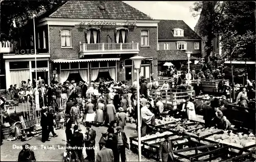
[[[222,144],[227,144],[231,146],[235,146],[238,148],[244,148],[248,146],[255,145],[255,136],[250,133],[242,135],[242,133],[229,133],[227,131],[224,131],[223,134],[214,134],[206,138],[207,140],[216,141]],[[254,148],[250,148],[248,150],[252,151]],[[238,150],[233,150],[234,152],[237,152]],[[238,151],[239,152],[239,151]]]

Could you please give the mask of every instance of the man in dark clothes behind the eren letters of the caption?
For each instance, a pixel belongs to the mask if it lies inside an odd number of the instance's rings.
[[[79,159],[80,161],[83,161],[83,155],[82,155],[82,148],[84,144],[83,134],[78,131],[77,125],[74,126],[74,133],[71,138],[70,144],[71,144],[71,147],[75,147],[75,149],[73,150],[76,156],[75,161],[77,161],[77,159]]]

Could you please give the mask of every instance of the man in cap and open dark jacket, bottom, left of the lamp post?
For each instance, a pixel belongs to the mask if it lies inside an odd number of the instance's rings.
[[[121,161],[125,161],[125,148],[129,149],[129,144],[127,143],[127,137],[124,132],[121,132],[122,127],[118,126],[116,127],[117,132],[115,133],[115,141],[117,141],[117,153],[115,161],[120,161],[120,155],[121,155]]]

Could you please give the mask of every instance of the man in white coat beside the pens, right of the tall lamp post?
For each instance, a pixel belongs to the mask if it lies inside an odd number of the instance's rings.
[[[155,114],[148,109],[150,107],[149,102],[141,108],[141,134],[146,134],[146,130],[150,128],[148,124],[155,125]]]

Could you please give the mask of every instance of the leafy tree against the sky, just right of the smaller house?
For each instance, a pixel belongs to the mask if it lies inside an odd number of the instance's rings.
[[[199,35],[206,37],[206,57],[208,58],[213,50],[212,40],[218,35],[219,32],[219,20],[222,17],[224,5],[218,1],[203,1],[194,3],[193,7],[190,7],[190,11],[194,12],[194,17],[200,14],[198,20]],[[209,60],[209,59],[208,59]]]

